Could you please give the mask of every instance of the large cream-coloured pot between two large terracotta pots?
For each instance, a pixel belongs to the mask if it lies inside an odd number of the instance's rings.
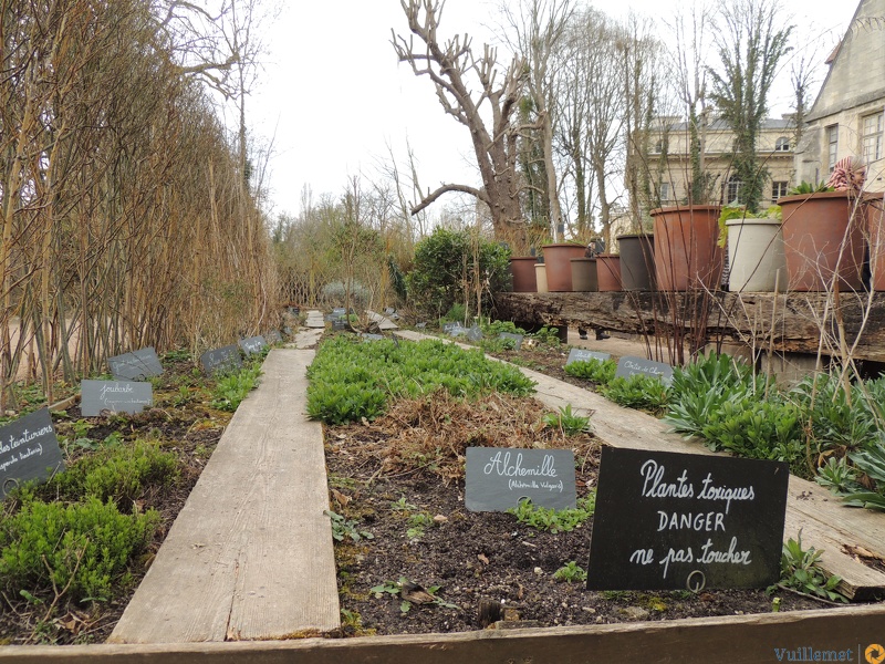
[[[732,292],[787,290],[787,259],[780,219],[730,219],[728,289]]]

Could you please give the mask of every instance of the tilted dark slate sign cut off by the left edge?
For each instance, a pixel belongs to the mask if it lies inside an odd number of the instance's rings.
[[[44,480],[64,470],[49,409],[0,427],[0,498],[22,481]]]

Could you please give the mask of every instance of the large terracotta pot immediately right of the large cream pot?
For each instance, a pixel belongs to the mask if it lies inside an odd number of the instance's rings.
[[[783,196],[783,251],[791,291],[861,290],[864,264],[863,215],[847,191]]]

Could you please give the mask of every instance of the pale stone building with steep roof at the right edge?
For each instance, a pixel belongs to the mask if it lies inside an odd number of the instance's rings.
[[[796,179],[825,180],[846,156],[866,164],[866,189],[885,191],[885,0],[861,0],[805,121]]]

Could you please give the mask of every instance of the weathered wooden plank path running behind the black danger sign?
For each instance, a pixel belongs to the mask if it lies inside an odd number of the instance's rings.
[[[435,339],[412,331],[396,334],[413,341]],[[519,369],[538,383],[535,397],[539,401],[553,409],[571,404],[575,413],[590,414],[594,434],[608,445],[657,452],[717,454],[697,440],[686,440],[670,433],[666,424],[646,413],[622,408],[595,392],[537,371]],[[847,552],[852,547],[862,547],[885,560],[885,515],[845,507],[818,484],[791,476],[784,539],[795,539],[800,530],[802,547],[824,551],[822,566],[831,574],[842,577],[840,590],[848,598],[857,601],[885,599],[885,573],[863,564]]]

